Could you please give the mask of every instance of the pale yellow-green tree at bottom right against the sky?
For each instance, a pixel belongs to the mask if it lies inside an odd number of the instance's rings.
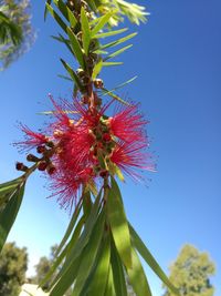
[[[185,245],[176,262],[170,266],[169,279],[180,290],[180,295],[212,296],[214,288],[210,283],[210,276],[214,274],[214,264],[209,255],[200,253],[192,245]],[[173,296],[166,290],[164,296]]]

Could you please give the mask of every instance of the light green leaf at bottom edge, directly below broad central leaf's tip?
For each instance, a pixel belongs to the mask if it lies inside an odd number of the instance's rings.
[[[136,296],[151,296],[151,290],[149,288],[145,272],[134,248],[131,249],[131,261],[133,268],[126,267],[126,269],[129,277],[129,283],[133,286]]]

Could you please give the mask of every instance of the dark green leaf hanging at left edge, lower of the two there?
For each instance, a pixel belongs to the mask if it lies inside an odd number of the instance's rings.
[[[12,191],[9,202],[0,213],[0,252],[19,212],[24,194],[24,184],[25,183],[22,183],[15,188],[15,191]]]

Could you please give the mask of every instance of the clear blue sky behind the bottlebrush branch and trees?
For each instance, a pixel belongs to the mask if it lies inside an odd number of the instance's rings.
[[[33,48],[0,73],[0,182],[18,175],[14,162],[23,160],[10,145],[21,137],[17,122],[38,129],[45,121],[38,112],[50,109],[48,93],[71,96],[71,85],[59,58],[65,50],[50,39],[59,31],[44,1],[32,1],[38,39]],[[146,4],[145,1],[141,2]],[[217,264],[213,279],[221,295],[221,2],[220,0],[148,1],[146,25],[134,48],[122,57],[125,64],[104,72],[106,86],[138,79],[119,94],[140,101],[150,120],[148,134],[158,156],[158,172],[148,174],[148,187],[123,185],[126,212],[160,265],[176,258],[191,243],[210,253]],[[30,178],[10,241],[28,246],[33,263],[59,242],[69,215],[49,196],[40,174]],[[160,282],[147,268],[154,296]]]

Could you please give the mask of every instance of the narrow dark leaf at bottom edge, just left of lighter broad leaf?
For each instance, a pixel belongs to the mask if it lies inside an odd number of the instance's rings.
[[[112,243],[112,269],[116,295],[127,296],[124,268],[114,243]]]

